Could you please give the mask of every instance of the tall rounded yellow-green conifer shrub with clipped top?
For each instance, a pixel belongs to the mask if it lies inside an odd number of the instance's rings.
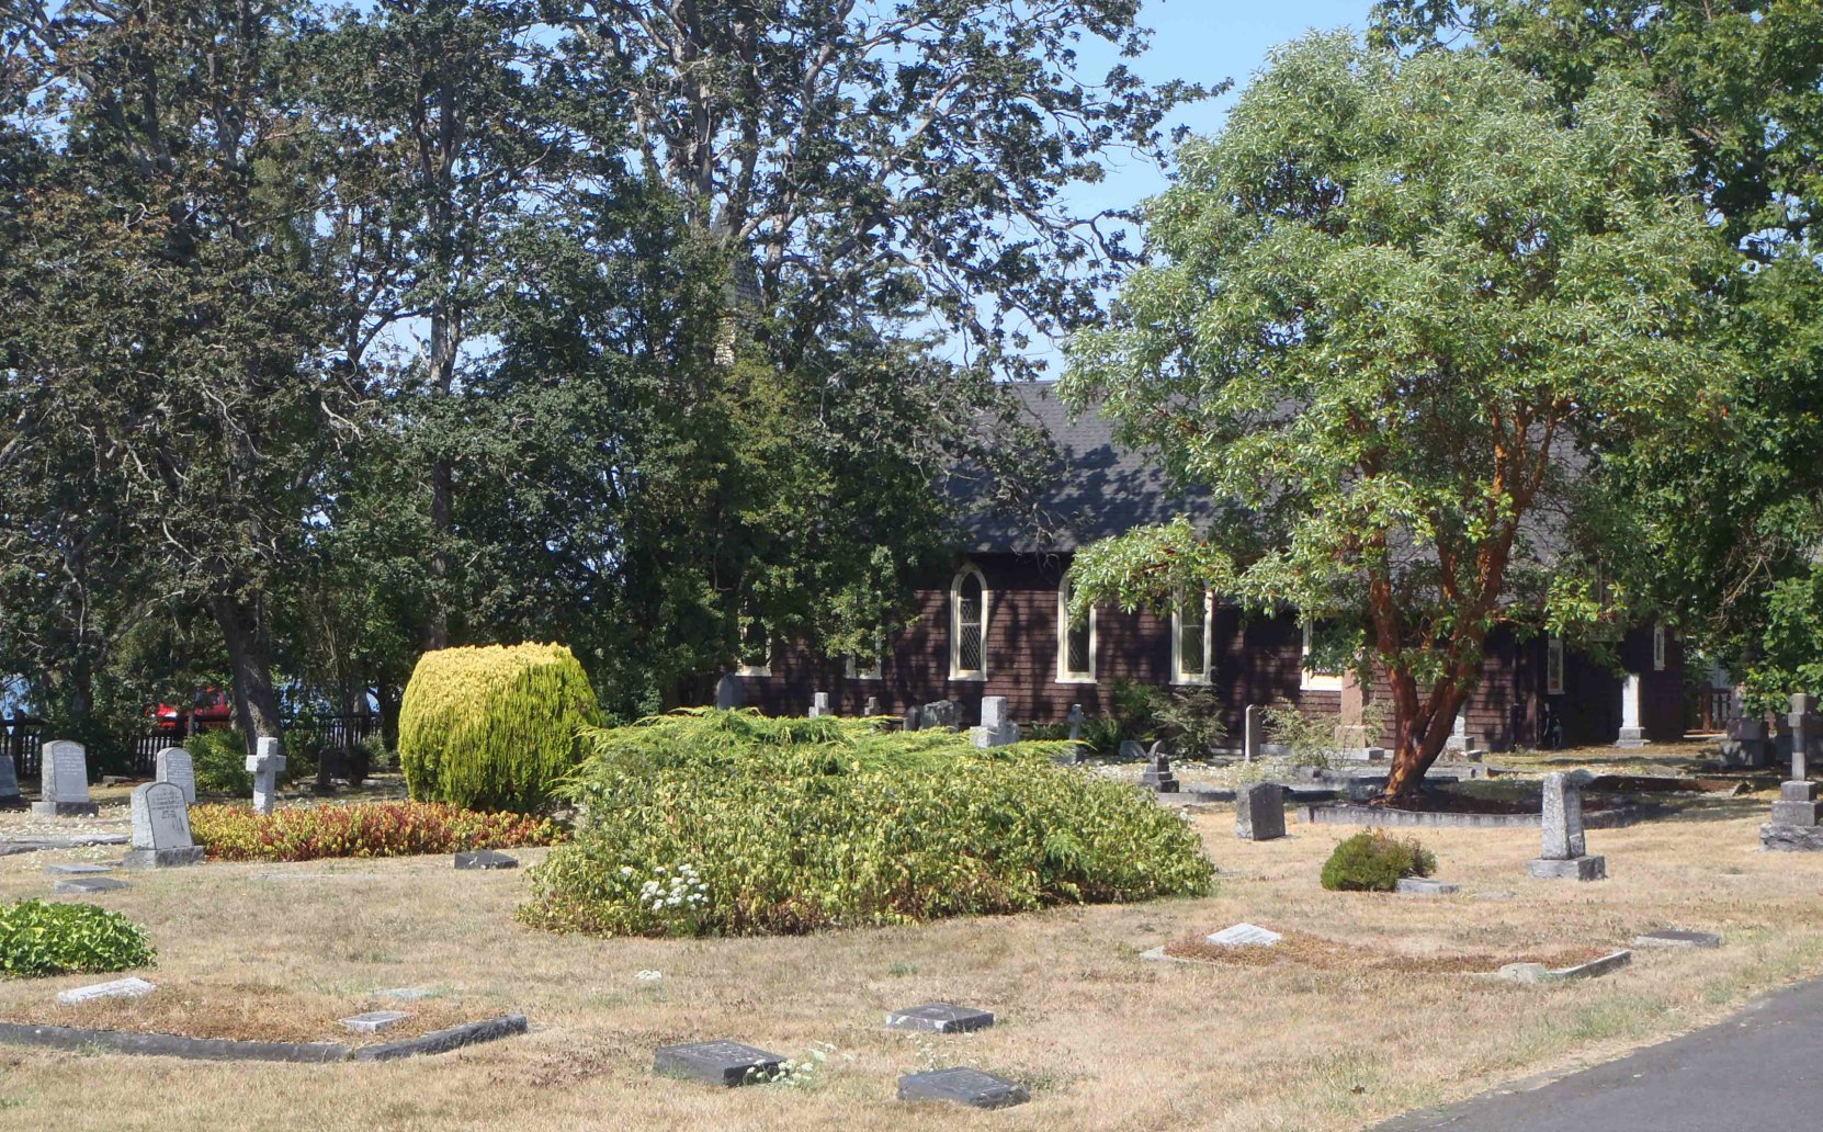
[[[589,676],[563,645],[425,653],[399,704],[399,767],[412,798],[532,811],[576,769],[598,722]]]

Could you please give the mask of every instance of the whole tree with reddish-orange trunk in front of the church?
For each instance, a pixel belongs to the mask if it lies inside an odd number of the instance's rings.
[[[1628,87],[1564,106],[1342,35],[1278,51],[1181,160],[1145,213],[1161,262],[1072,339],[1065,392],[1229,510],[1092,547],[1077,600],[1334,620],[1391,684],[1402,793],[1489,633],[1619,612],[1595,567],[1633,532],[1595,470],[1719,412],[1717,241]]]

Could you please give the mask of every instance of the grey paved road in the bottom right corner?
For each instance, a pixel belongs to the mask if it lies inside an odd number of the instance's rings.
[[[1373,1132],[1734,1132],[1823,1128],[1823,979],[1630,1057]]]

